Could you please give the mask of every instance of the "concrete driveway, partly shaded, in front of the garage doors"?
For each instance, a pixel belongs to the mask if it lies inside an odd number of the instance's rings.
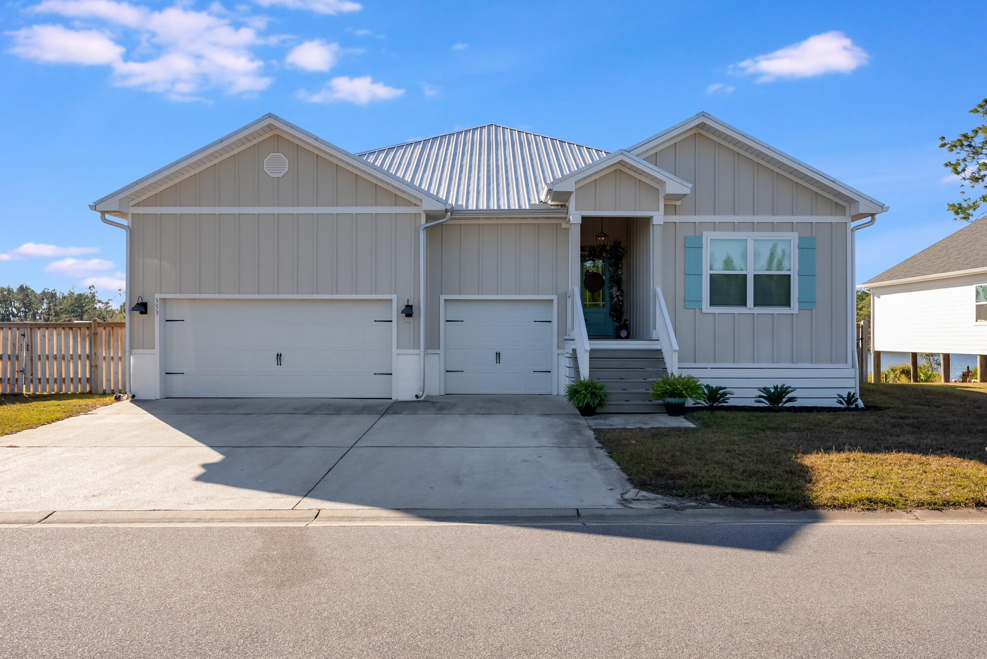
[[[0,441],[0,510],[599,508],[630,487],[551,396],[137,401]]]

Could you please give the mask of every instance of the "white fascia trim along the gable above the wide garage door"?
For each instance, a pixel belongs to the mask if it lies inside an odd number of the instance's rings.
[[[152,172],[151,174],[142,177],[133,183],[124,185],[123,187],[94,202],[91,207],[93,207],[93,210],[119,211],[119,200],[127,194],[147,185],[148,183],[153,183],[162,177],[181,170],[182,168],[187,167],[190,163],[201,158],[203,155],[215,151],[224,144],[241,139],[267,124],[272,125],[275,129],[282,130],[287,135],[292,136],[301,142],[315,147],[319,151],[323,151],[327,155],[335,157],[337,160],[342,160],[342,162],[346,164],[347,169],[351,169],[364,176],[369,176],[380,181],[387,187],[398,188],[403,194],[415,197],[415,200],[420,201],[425,210],[445,210],[447,207],[451,207],[450,204],[448,204],[444,199],[441,199],[431,192],[418,187],[418,185],[408,183],[404,179],[400,179],[390,172],[366,162],[362,158],[357,158],[353,154],[336,146],[335,144],[327,142],[326,140],[313,135],[307,130],[299,128],[293,123],[285,121],[281,117],[270,112],[266,113],[256,121],[252,121],[242,128],[238,128],[237,130],[220,137],[218,140],[210,142],[200,149],[196,149],[189,155],[165,165],[161,169],[156,170],[155,172]],[[210,165],[211,164],[212,163],[210,163]],[[193,173],[190,173],[190,175],[191,174]],[[177,183],[177,181],[175,183]]]

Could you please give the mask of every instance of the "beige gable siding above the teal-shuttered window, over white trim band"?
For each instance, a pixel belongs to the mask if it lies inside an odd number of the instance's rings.
[[[692,133],[645,161],[693,184],[665,215],[846,215],[842,203],[748,158],[733,147]]]

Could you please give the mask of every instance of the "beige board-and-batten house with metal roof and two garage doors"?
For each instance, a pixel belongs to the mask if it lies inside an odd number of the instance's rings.
[[[887,210],[705,112],[614,152],[488,124],[358,154],[266,114],[90,207],[127,231],[138,399],[589,373],[618,411],[666,370],[856,390],[853,223]]]

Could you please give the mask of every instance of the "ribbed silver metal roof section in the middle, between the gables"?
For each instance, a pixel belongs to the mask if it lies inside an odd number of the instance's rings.
[[[459,209],[530,208],[551,183],[609,152],[488,123],[358,153]]]

